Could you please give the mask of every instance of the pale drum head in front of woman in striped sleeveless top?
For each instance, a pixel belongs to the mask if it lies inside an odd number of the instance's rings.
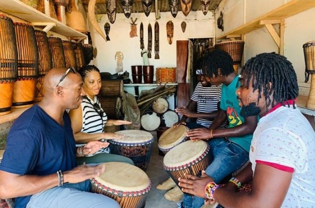
[[[115,134],[124,135],[123,138],[112,140],[119,143],[137,144],[137,143],[150,142],[153,140],[152,134],[146,131],[141,131],[141,130],[122,130],[122,131],[115,132]]]

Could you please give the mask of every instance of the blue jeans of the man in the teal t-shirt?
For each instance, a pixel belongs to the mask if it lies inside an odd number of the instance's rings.
[[[212,163],[205,170],[206,174],[219,183],[227,175],[242,167],[249,160],[249,153],[242,147],[226,138],[216,138],[208,141],[212,152]],[[204,198],[184,194],[182,207],[200,208]]]

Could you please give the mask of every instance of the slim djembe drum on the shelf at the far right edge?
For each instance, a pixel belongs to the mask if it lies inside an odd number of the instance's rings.
[[[311,88],[308,95],[306,108],[315,109],[315,41],[303,45],[305,59],[305,82],[308,82],[311,74]]]

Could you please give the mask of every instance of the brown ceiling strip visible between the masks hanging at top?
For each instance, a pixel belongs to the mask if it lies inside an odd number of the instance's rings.
[[[210,5],[209,5],[209,10],[214,10],[219,5],[220,2],[221,2],[221,0],[211,0]],[[82,0],[82,3],[87,9],[87,6],[89,4],[89,0]],[[122,6],[120,4],[120,0],[116,0],[116,6],[117,6],[117,12],[123,13],[123,9],[122,9]],[[158,1],[158,7],[160,9],[160,12],[169,11],[169,1],[168,0],[159,0]],[[179,10],[181,10],[180,7],[179,7]],[[193,0],[192,1],[192,11],[197,11],[197,10],[202,10],[202,7],[200,5],[200,1],[199,0]],[[154,12],[154,11],[155,11],[155,4],[153,3],[153,7],[151,9],[151,12]],[[144,12],[143,8],[142,8],[141,0],[134,0],[132,12],[134,12],[134,13]],[[97,0],[96,1],[95,14],[106,14],[105,0]]]

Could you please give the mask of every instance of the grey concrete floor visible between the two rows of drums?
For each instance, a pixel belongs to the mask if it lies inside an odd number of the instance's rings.
[[[146,198],[146,206],[145,208],[177,208],[178,202],[173,202],[166,200],[164,198],[164,193],[167,191],[158,190],[156,186],[163,181],[166,181],[169,178],[169,175],[163,169],[163,157],[158,155],[157,148],[157,137],[156,132],[150,132],[154,138],[153,151],[151,155],[151,160],[148,169],[146,170],[146,174],[152,181],[152,189],[148,193]]]

